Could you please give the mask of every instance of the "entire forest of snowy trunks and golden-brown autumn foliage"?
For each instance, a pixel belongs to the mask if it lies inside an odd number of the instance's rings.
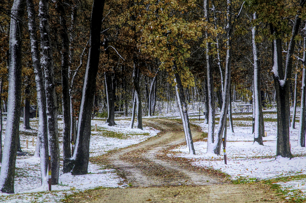
[[[112,126],[115,111],[123,111],[132,114],[131,128],[136,116],[136,126],[142,129],[143,115],[156,115],[160,106],[171,108],[176,102],[191,154],[187,103],[203,102],[201,111],[209,123],[207,151],[220,154],[231,100],[253,104],[254,141],[259,144],[264,136],[262,107],[276,102],[276,155],[292,158],[289,126],[294,128],[295,117],[290,124],[290,105],[301,105],[304,125],[298,144],[305,147],[304,4],[1,1],[0,109],[8,113],[10,136],[4,144],[1,191],[14,192],[21,101],[24,109],[30,104],[39,109],[36,153],[42,183],[50,154],[52,184],[58,184],[58,114],[64,120],[63,170],[78,175],[88,169],[91,118],[107,115]],[[215,133],[216,108],[221,116]],[[27,128],[28,111],[24,115]]]

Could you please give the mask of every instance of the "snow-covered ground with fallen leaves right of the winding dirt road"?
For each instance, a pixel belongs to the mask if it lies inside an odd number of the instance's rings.
[[[276,119],[276,112],[273,111],[276,111],[276,109],[272,109],[272,112],[271,109],[264,112],[264,118]],[[294,156],[290,160],[289,158],[282,158],[280,156],[275,157],[277,136],[276,120],[265,122],[267,137],[263,138],[264,146],[261,146],[256,143],[253,144],[252,114],[233,115],[233,118],[244,118],[244,120],[234,119],[233,125],[235,133],[230,133],[229,128],[227,129],[227,165],[224,164],[223,153],[221,153],[222,155],[207,154],[207,142],[203,141],[194,143],[196,155],[189,155],[186,147],[181,146],[174,149],[174,153],[170,153],[169,156],[188,158],[196,166],[220,170],[230,175],[230,179],[237,181],[250,182],[290,176],[293,180],[276,183],[280,184],[284,190],[300,190],[304,193],[300,194],[306,197],[306,179],[298,176],[306,175],[306,149],[297,147],[299,123],[295,124],[296,129],[290,130],[291,152]],[[297,112],[296,119],[299,119],[299,111]],[[196,121],[191,119],[191,123],[201,126],[204,132],[208,131],[208,125],[203,124],[203,120]]]

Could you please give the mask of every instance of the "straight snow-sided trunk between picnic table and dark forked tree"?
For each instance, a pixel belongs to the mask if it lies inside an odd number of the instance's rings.
[[[253,20],[256,20],[256,12],[253,14]],[[256,26],[252,26],[252,52],[253,52],[253,94],[254,94],[254,142],[263,145],[262,125],[263,119],[261,119],[262,105],[261,105],[261,87],[260,87],[260,66],[257,57],[257,45],[255,41]]]

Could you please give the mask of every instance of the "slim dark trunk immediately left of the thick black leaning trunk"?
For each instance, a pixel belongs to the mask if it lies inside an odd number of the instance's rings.
[[[61,76],[62,76],[62,109],[63,109],[63,173],[68,173],[72,169],[70,164],[70,94],[69,94],[69,36],[67,33],[66,14],[63,2],[57,2],[56,9],[59,14],[61,24],[60,35],[62,39],[61,50]]]

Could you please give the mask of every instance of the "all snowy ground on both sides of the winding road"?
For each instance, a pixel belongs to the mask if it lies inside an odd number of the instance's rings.
[[[154,117],[180,119],[179,113],[174,107],[168,110],[168,112],[166,109],[163,109],[159,112],[158,116]],[[216,117],[218,117],[218,113]],[[204,132],[207,132],[208,126],[207,124],[203,124],[203,116],[201,116],[201,121],[196,120],[199,118],[198,116],[190,116],[190,118],[191,123],[199,125]],[[253,144],[252,114],[234,114],[233,118],[236,118],[233,121],[235,133],[230,133],[229,130],[227,131],[228,142],[226,152],[228,165],[224,165],[223,155],[206,154],[206,142],[194,143],[196,149],[195,156],[188,155],[185,146],[174,149],[173,154],[170,152],[169,156],[185,157],[192,160],[192,164],[194,165],[221,170],[229,174],[232,180],[237,181],[250,182],[291,176],[292,178],[289,181],[282,180],[274,182],[280,184],[282,189],[290,191],[289,194],[296,194],[297,191],[302,191],[305,196],[306,179],[299,178],[298,175],[306,174],[306,150],[305,148],[296,147],[298,130],[293,129],[290,132],[291,151],[294,158],[289,160],[287,158],[277,157],[275,159],[277,134],[277,115],[275,109],[267,109],[264,111],[264,118],[269,119],[269,121],[265,122],[267,137],[263,138],[264,146]],[[126,117],[120,117],[119,119],[122,120],[115,121],[117,123],[116,127],[107,126],[104,123],[105,119],[92,120],[91,157],[102,155],[115,148],[123,148],[139,143],[158,133],[158,131],[148,127],[145,127],[144,130],[128,129],[129,121],[123,120]],[[299,119],[299,110],[297,111],[296,119]],[[62,122],[59,121],[58,123],[59,131],[61,131]],[[95,124],[98,126],[97,132],[94,131]],[[4,128],[5,125],[6,122],[4,122]],[[32,137],[36,141],[35,135],[38,128],[38,121],[32,119],[30,125],[33,130],[22,130],[20,128],[22,150],[29,154],[28,156],[17,157],[15,178],[16,194],[8,195],[0,193],[0,202],[59,202],[60,199],[65,198],[65,195],[75,191],[84,191],[98,186],[126,186],[114,171],[90,163],[88,167],[89,174],[87,175],[72,176],[71,174],[61,174],[60,184],[58,186],[52,186],[53,191],[51,192],[47,191],[47,186],[45,185],[40,187],[39,159],[32,156],[35,151],[35,146],[32,146]],[[298,125],[299,123],[296,123],[297,129]],[[28,149],[25,147],[26,139],[29,140]],[[62,138],[60,137],[60,148],[62,150],[61,141]]]

